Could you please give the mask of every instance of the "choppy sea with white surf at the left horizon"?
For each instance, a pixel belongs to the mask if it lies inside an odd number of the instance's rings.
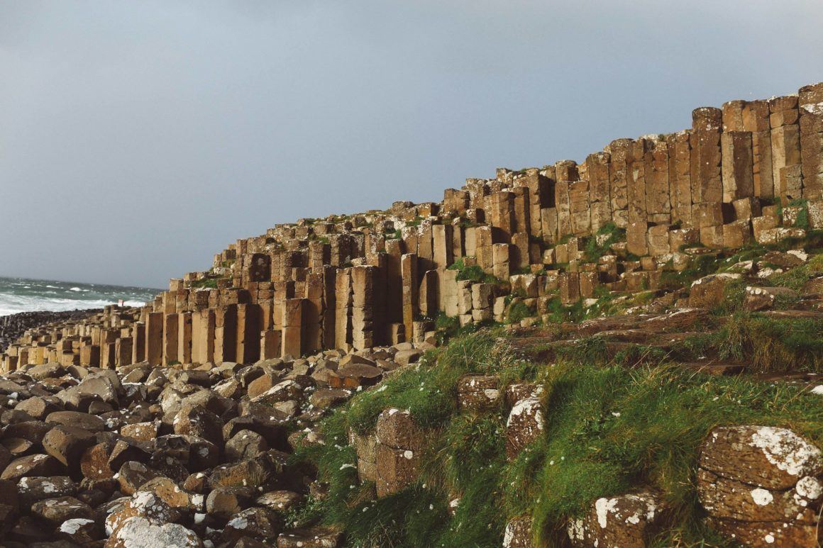
[[[106,304],[118,304],[119,300],[126,306],[142,306],[154,300],[158,293],[160,290],[147,287],[0,277],[0,316],[19,312],[101,309]]]

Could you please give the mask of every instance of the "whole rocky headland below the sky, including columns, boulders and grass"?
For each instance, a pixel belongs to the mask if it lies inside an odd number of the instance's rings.
[[[26,329],[5,546],[816,546],[821,104],[277,225]]]

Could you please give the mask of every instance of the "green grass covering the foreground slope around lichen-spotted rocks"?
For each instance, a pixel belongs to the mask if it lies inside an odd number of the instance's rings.
[[[776,425],[823,443],[819,397],[792,385],[667,365],[626,369],[613,365],[618,360],[595,365],[589,359],[602,350],[597,341],[585,343],[591,355],[529,364],[500,339],[503,333],[455,338],[334,411],[322,427],[326,444],[301,448],[292,458],[292,466],[316,467],[329,496],[310,500],[289,522],[342,526],[348,546],[500,546],[508,519],[531,515],[540,546],[556,546],[567,520],[597,498],[649,485],[663,494],[671,516],[653,546],[724,546],[702,525],[695,488],[699,448],[709,431]],[[514,461],[504,457],[507,409],[474,413],[455,405],[455,385],[467,373],[498,374],[503,385],[537,379],[544,386],[544,434]],[[375,499],[373,485],[356,479],[346,431],[370,432],[387,407],[411,410],[426,430],[427,449],[416,484]],[[460,503],[452,516],[454,498]]]

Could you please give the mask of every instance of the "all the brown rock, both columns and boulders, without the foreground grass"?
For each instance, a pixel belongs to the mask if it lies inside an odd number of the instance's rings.
[[[765,318],[821,321],[820,262],[774,244],[823,230],[823,84],[692,119],[676,134],[613,141],[579,165],[467,179],[442,202],[277,225],[145,307],[27,328],[2,355],[0,536],[7,546],[338,546],[337,524],[295,525],[307,500],[333,496],[295,452],[349,451],[351,462],[333,461],[351,468],[346,490],[373,485],[364,496],[374,500],[416,489],[434,430],[413,405],[380,406],[368,428],[334,439],[318,425],[419,370],[443,335],[438,319],[506,321],[509,350],[534,364],[594,341],[597,352],[583,354],[593,363],[642,365],[645,354],[630,353],[642,349],[690,372],[754,369],[682,343],[716,336],[709,309],[732,299]],[[754,244],[773,249],[700,272],[701,260]],[[805,272],[793,288],[768,283],[792,272]],[[672,276],[687,282],[672,286]],[[597,308],[637,295],[649,304]],[[598,313],[557,319],[574,307]],[[790,358],[779,355],[777,369],[796,373]],[[510,382],[492,368],[453,379],[427,393],[500,420],[501,462],[546,437],[545,378]],[[802,389],[814,377],[791,380]],[[820,448],[788,428],[714,426],[697,438],[714,428],[699,459],[694,444],[702,521],[746,546],[815,546]],[[561,542],[647,546],[671,525],[653,485],[589,502],[556,527]],[[460,504],[449,493],[449,513]],[[536,546],[530,515],[507,518],[504,546]]]

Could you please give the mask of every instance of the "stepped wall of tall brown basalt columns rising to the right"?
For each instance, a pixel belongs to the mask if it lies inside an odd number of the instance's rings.
[[[498,170],[439,203],[304,219],[240,239],[210,272],[172,280],[139,311],[30,333],[18,363],[253,362],[423,341],[438,313],[504,317],[534,274],[533,315],[598,290],[658,289],[712,249],[823,227],[823,84],[692,113],[692,128],[617,139],[582,164]],[[69,344],[69,342],[71,344]]]

